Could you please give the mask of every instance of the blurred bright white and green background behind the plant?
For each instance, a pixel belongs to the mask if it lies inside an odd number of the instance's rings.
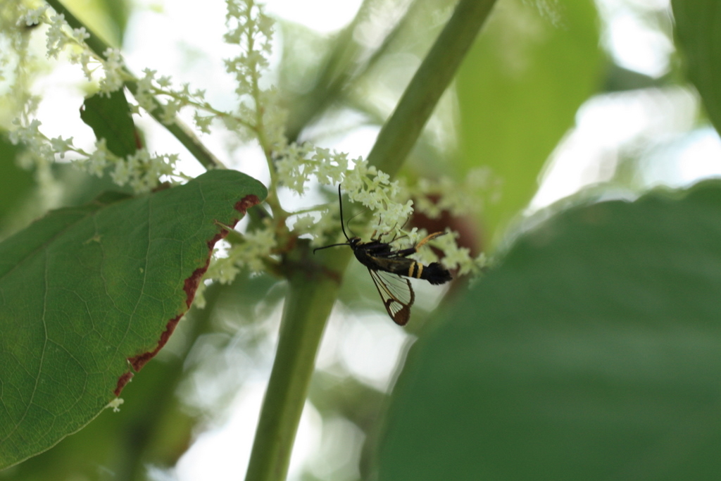
[[[380,126],[443,27],[446,0],[268,0],[278,19],[267,75],[288,108],[289,138],[365,156]],[[68,0],[68,8],[123,49],[132,71],[234,105],[223,58],[225,5],[157,0]],[[89,93],[81,71],[45,61],[42,27],[31,33],[39,66],[33,89],[46,136],[94,136],[77,115]],[[6,86],[0,84],[0,93]],[[0,105],[0,127],[13,112]],[[188,112],[187,120],[190,119]],[[181,152],[180,169],[203,168],[149,116],[136,119],[151,151]],[[203,142],[226,165],[268,179],[252,143],[217,128]],[[37,187],[0,159],[3,237],[48,208],[81,203],[111,187],[59,160]],[[477,179],[482,206],[443,217],[461,244],[492,254],[528,216],[579,192],[635,198],[721,173],[721,143],[684,79],[668,0],[498,0],[477,45],[401,172],[404,182],[441,175]],[[473,173],[473,175],[471,175]],[[333,201],[332,192],[281,191],[288,210]],[[583,194],[582,194],[583,195]],[[430,225],[433,219],[415,219]],[[417,286],[412,325],[389,321],[361,265],[345,275],[324,335],[317,374],[291,463],[291,480],[360,480],[379,418],[408,346],[443,293]],[[273,361],[284,286],[239,275],[206,291],[171,342],[123,391],[120,413],[103,412],[50,451],[0,472],[0,480],[236,480],[242,476]],[[241,474],[239,474],[241,473]]]

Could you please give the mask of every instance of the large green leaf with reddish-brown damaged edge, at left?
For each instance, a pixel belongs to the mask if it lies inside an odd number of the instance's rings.
[[[120,394],[193,301],[218,222],[234,225],[266,194],[216,170],[53,211],[0,244],[0,468],[50,448]]]

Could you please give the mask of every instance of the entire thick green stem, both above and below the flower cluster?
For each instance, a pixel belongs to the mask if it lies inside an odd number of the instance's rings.
[[[431,48],[397,109],[381,130],[371,163],[391,175],[400,168],[441,94],[472,45],[495,0],[461,0]],[[307,242],[299,242],[288,268],[278,350],[263,400],[246,481],[286,479],[293,441],[306,402],[315,358],[327,317],[337,296],[348,250],[328,253],[319,265]]]

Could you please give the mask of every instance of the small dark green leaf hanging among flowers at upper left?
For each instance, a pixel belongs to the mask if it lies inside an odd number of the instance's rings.
[[[107,149],[120,158],[138,150],[138,133],[123,89],[112,92],[110,97],[95,94],[85,99],[80,118],[98,140],[105,138]]]

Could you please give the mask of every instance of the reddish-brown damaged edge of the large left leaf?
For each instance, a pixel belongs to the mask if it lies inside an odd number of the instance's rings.
[[[260,199],[257,198],[256,195],[246,195],[244,198],[239,200],[234,207],[236,211],[244,214],[249,208],[255,206],[257,203],[260,203]],[[229,224],[229,226],[234,227],[235,224],[238,223],[238,220],[239,219],[233,219],[233,222]],[[214,235],[212,239],[208,240],[208,258],[205,260],[205,265],[203,265],[203,267],[195,269],[193,271],[193,274],[191,274],[189,278],[185,279],[185,283],[183,284],[183,290],[185,291],[185,306],[187,309],[190,309],[190,305],[193,304],[193,299],[195,299],[195,291],[198,291],[198,285],[200,284],[200,280],[203,278],[203,274],[205,274],[205,271],[208,270],[208,265],[211,262],[211,254],[213,254],[213,247],[215,247],[216,242],[226,237],[226,235],[228,235],[228,231],[226,231],[226,229],[221,229],[218,234]],[[185,312],[187,312],[187,309],[185,309]],[[180,321],[180,318],[183,316],[183,314],[185,314],[185,312],[183,312],[182,314],[178,314],[176,317],[168,321],[167,325],[165,326],[165,330],[160,335],[158,345],[156,345],[156,348],[154,350],[139,354],[138,356],[134,356],[132,358],[128,358],[128,362],[131,363],[134,371],[138,372],[143,369],[143,366],[145,366],[148,361],[154,358],[158,351],[163,348],[165,343],[168,342],[170,335],[175,330],[177,323]],[[123,387],[125,387],[125,384],[128,384],[128,381],[130,381],[132,377],[133,372],[128,371],[118,378],[118,387],[116,387],[115,391],[113,391],[116,397],[120,396],[120,392],[123,391]]]

